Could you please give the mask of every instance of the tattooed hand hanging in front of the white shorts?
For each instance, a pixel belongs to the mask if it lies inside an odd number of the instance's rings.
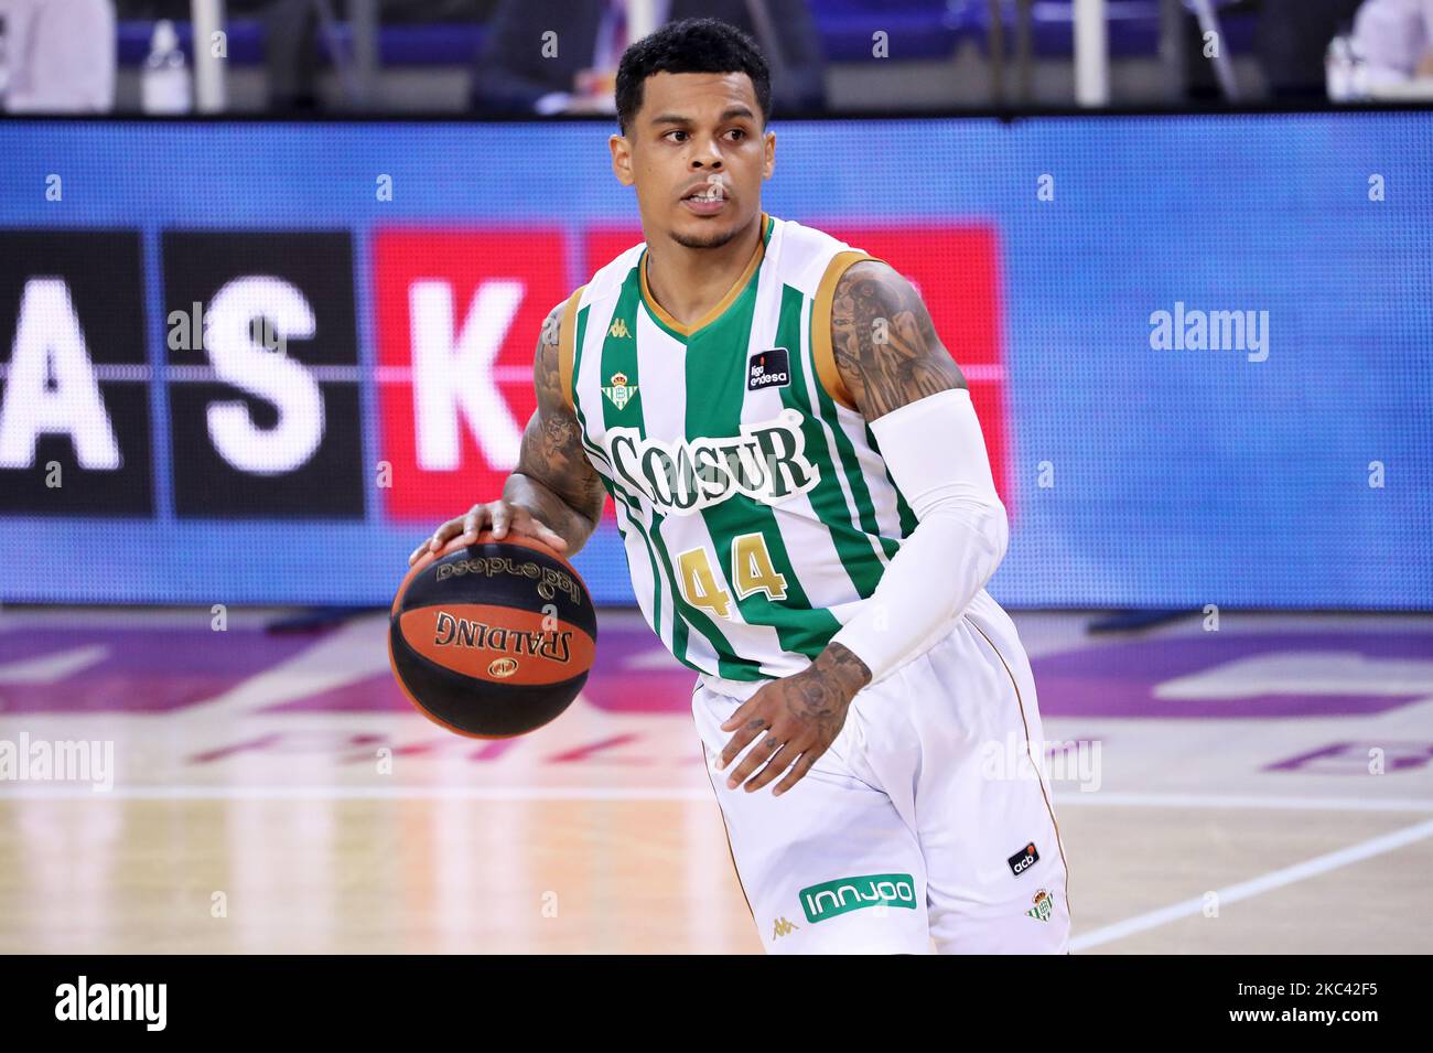
[[[771,791],[772,797],[781,797],[835,742],[845,725],[851,699],[870,678],[870,670],[860,659],[844,648],[840,650],[848,656],[845,660],[833,658],[831,650],[823,652],[800,673],[764,685],[722,723],[722,731],[737,734],[722,749],[719,768],[731,764],[748,744],[765,732],[728,776],[729,789],[745,782],[744,789],[749,794],[791,768]],[[761,771],[748,781],[757,768]]]

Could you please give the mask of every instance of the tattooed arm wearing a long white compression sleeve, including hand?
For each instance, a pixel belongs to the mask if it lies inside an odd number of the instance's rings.
[[[1005,554],[1005,507],[964,377],[911,284],[878,261],[851,264],[831,302],[831,350],[835,394],[871,425],[917,529],[815,660],[722,725],[737,732],[722,768],[751,746],[729,789],[759,789],[788,766],[772,792],[790,789],[840,734],[857,692],[949,632]]]

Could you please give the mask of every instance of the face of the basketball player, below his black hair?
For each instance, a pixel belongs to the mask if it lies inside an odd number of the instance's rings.
[[[715,248],[761,212],[775,143],[745,73],[656,73],[626,136],[612,136],[612,166],[636,186],[648,241]]]

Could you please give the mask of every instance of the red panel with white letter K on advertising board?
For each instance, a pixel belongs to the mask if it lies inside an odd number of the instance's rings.
[[[381,490],[391,519],[446,519],[496,499],[537,407],[533,350],[570,289],[556,231],[380,231]]]

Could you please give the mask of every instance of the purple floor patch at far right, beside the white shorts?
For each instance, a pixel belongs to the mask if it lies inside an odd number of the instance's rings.
[[[1297,668],[1290,678],[1291,653],[1308,656],[1310,670],[1303,683]],[[1318,689],[1320,679],[1328,675],[1330,660],[1347,653],[1367,663],[1350,676],[1361,676],[1370,689],[1363,693]],[[1212,679],[1221,666],[1260,658],[1278,662],[1277,679],[1293,682],[1277,689],[1262,686],[1260,669],[1252,663],[1247,666],[1252,693],[1228,696],[1238,682],[1235,670],[1219,678],[1219,693],[1214,693]],[[1380,660],[1427,662],[1427,688],[1410,688],[1403,693],[1377,691]],[[1068,650],[1030,665],[1043,716],[1343,716],[1381,713],[1433,696],[1430,633],[1204,633]],[[1195,675],[1209,678],[1208,698],[1155,696],[1161,683]]]

